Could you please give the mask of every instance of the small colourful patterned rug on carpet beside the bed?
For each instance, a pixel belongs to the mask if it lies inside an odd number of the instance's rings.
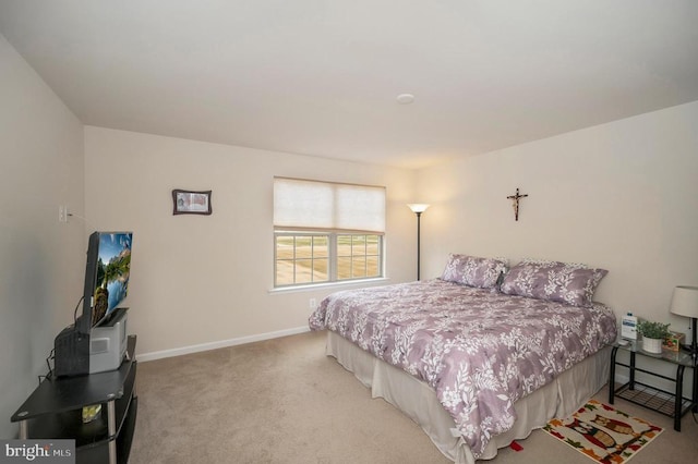
[[[552,419],[543,430],[603,464],[625,463],[657,438],[662,428],[589,400],[565,419]]]

